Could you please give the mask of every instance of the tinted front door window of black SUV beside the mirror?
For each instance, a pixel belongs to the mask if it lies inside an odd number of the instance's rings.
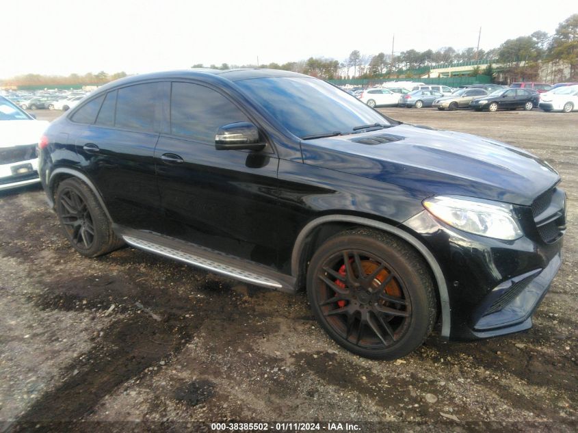
[[[170,130],[213,144],[218,127],[248,118],[222,94],[193,83],[172,83]]]

